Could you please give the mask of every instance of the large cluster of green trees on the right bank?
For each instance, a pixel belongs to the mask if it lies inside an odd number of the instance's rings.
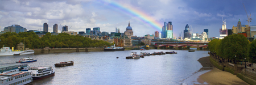
[[[241,34],[233,34],[226,36],[224,39],[214,39],[209,42],[208,48],[210,52],[216,53],[227,60],[242,61],[246,58],[251,63],[256,61],[256,41],[249,42],[247,38]]]

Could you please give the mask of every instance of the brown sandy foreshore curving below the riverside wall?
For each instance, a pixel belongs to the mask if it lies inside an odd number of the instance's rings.
[[[213,67],[213,65],[210,63],[209,57],[203,57],[198,60],[201,65],[204,67]],[[233,75],[231,73],[228,73],[226,71],[222,71],[217,69],[216,67],[213,68],[213,70],[202,74],[197,78],[197,82],[204,84],[204,82],[207,82],[208,84],[243,84],[247,85],[246,82],[238,78],[236,75]]]

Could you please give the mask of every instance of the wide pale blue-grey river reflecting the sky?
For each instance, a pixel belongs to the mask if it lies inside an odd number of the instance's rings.
[[[145,56],[126,59],[131,52],[168,52],[171,50],[125,50],[119,52],[52,53],[27,56],[2,56],[0,65],[7,65],[20,58],[31,57],[37,62],[32,67],[53,66],[55,76],[34,80],[31,84],[195,84],[199,75],[201,57],[208,51],[174,50],[177,54]],[[119,58],[116,58],[119,57]],[[54,63],[74,61],[73,66],[55,67]]]

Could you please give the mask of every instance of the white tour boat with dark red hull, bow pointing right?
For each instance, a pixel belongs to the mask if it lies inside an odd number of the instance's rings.
[[[47,78],[55,75],[55,70],[51,66],[46,67],[28,67],[28,71],[32,72],[33,80]]]

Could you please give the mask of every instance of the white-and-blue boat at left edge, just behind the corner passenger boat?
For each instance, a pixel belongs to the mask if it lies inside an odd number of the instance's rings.
[[[0,74],[2,73],[9,73],[13,71],[20,71],[22,69],[26,69],[28,67],[27,64],[22,64],[22,65],[6,65],[6,66],[0,66]]]

